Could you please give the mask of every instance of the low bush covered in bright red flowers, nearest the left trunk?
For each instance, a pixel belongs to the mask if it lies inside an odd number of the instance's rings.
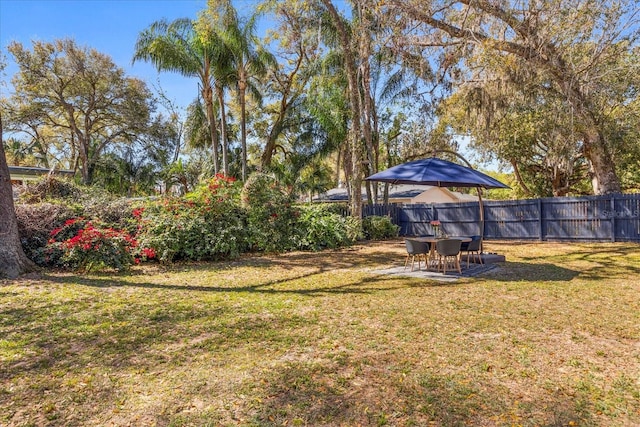
[[[43,250],[45,264],[81,270],[126,270],[141,260],[155,258],[155,251],[139,248],[128,232],[84,218],[72,218],[50,233]]]

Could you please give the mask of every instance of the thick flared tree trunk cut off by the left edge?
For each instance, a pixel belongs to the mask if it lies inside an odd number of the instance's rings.
[[[20,243],[9,165],[4,153],[2,115],[0,114],[0,277],[13,279],[34,271],[35,268],[35,264],[24,254]]]

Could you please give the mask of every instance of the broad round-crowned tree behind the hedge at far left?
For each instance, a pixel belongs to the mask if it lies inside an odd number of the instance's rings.
[[[100,157],[143,133],[152,110],[144,82],[125,76],[111,58],[73,40],[9,45],[19,67],[7,111],[13,131],[43,130],[56,150],[70,153],[90,184]]]

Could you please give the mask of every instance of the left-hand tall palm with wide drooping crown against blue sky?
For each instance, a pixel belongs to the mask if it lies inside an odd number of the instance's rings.
[[[213,67],[221,59],[220,40],[216,32],[181,18],[169,23],[156,21],[138,36],[133,61],[149,61],[158,71],[173,71],[200,80],[200,94],[205,103],[211,135],[214,171],[218,172],[218,132],[213,106]]]

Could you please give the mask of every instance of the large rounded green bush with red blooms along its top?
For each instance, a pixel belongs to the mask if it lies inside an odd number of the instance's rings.
[[[150,202],[135,211],[138,240],[163,262],[236,257],[247,249],[246,215],[237,195],[234,180],[219,175],[186,198]]]

